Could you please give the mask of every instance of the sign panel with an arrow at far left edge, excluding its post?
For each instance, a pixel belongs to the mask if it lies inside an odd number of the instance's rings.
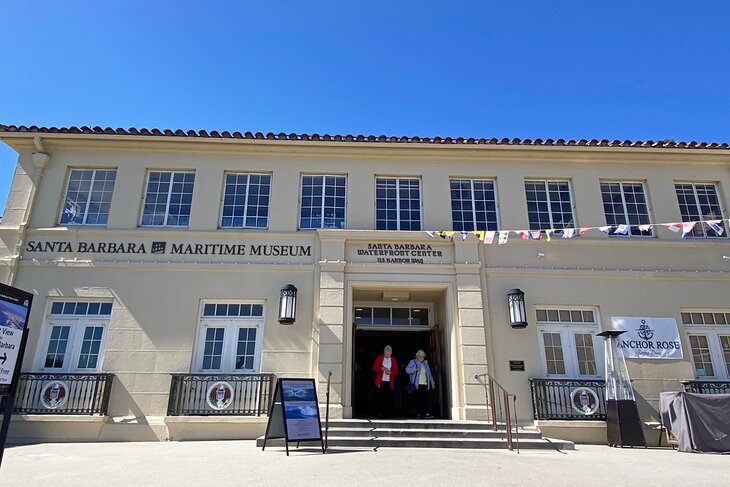
[[[32,294],[0,284],[0,395],[13,390],[32,302]]]

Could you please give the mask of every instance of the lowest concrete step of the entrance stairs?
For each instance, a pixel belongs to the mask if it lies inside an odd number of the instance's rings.
[[[466,449],[506,449],[507,441],[497,438],[475,438],[475,439],[438,439],[438,438],[343,438],[330,436],[328,448],[466,448]],[[256,446],[264,445],[263,437],[256,440]],[[267,447],[283,447],[284,440],[269,440]],[[320,448],[317,442],[302,442],[300,448]],[[515,444],[514,449],[518,445]],[[296,448],[296,443],[289,443],[289,448]],[[551,439],[525,439],[519,441],[520,449],[550,449],[550,450],[573,450],[575,445],[570,441]]]

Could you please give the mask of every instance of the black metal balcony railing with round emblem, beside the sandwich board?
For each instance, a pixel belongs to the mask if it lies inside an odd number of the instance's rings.
[[[172,374],[167,415],[266,415],[273,383],[273,374]]]

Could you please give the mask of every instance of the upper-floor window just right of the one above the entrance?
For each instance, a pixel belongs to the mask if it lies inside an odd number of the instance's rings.
[[[453,178],[450,184],[451,220],[455,231],[498,230],[494,180]]]

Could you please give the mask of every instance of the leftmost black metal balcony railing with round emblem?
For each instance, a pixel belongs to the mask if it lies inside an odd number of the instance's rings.
[[[113,380],[114,374],[22,373],[13,412],[105,416]]]

